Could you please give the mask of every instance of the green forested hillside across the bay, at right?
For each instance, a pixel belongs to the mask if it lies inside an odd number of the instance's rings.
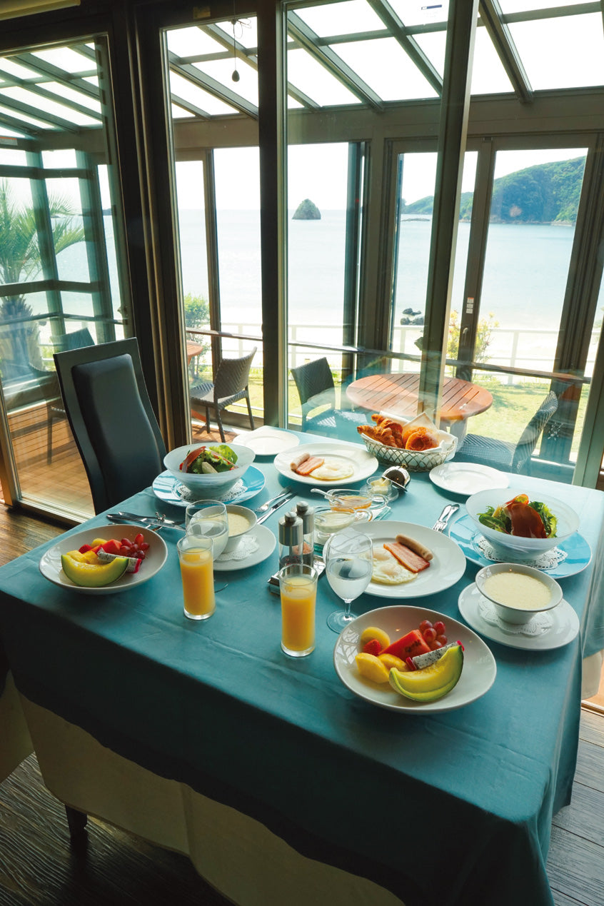
[[[577,219],[585,158],[517,170],[495,179],[491,223],[574,223]],[[473,192],[463,192],[460,220],[472,215]],[[434,196],[406,205],[403,213],[432,214]]]

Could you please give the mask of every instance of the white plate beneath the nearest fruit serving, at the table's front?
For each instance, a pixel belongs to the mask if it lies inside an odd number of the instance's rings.
[[[450,641],[459,640],[464,646],[464,669],[450,692],[436,701],[412,701],[399,695],[388,683],[375,683],[361,677],[354,659],[360,652],[359,641],[363,630],[376,626],[388,632],[390,641],[395,641],[408,631],[417,629],[422,620],[442,620],[446,625],[447,638]],[[405,714],[439,714],[442,711],[464,708],[491,689],[497,673],[493,654],[484,641],[464,623],[425,607],[405,605],[379,607],[350,622],[336,641],[333,665],[344,686],[358,698],[378,705],[379,708],[402,711]]]

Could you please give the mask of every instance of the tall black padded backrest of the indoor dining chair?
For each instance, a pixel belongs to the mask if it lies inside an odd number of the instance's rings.
[[[62,400],[96,513],[148,487],[166,447],[136,337],[55,352]]]

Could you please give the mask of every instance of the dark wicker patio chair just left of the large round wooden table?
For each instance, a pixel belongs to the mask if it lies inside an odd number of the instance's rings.
[[[302,431],[359,441],[357,425],[366,425],[367,416],[336,407],[335,384],[327,359],[323,356],[307,361],[291,371],[302,404]],[[319,409],[316,415],[309,414]]]

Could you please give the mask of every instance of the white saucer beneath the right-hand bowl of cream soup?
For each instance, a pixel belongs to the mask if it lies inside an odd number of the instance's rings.
[[[480,612],[480,601],[483,595],[476,588],[476,583],[468,585],[459,595],[457,606],[465,622],[486,639],[499,641],[508,648],[522,648],[526,651],[551,651],[568,645],[579,632],[579,617],[563,598],[557,607],[549,612],[551,627],[541,635],[523,635],[522,632],[506,632],[493,623],[486,622]]]

